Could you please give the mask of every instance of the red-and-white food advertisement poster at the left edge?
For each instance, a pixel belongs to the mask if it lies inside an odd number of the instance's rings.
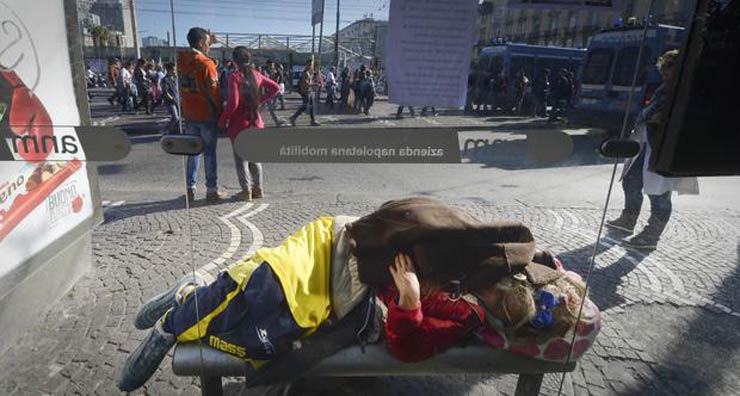
[[[0,0],[0,278],[90,218],[62,0]]]

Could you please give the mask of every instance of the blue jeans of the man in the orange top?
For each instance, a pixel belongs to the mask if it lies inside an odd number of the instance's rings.
[[[196,135],[203,138],[203,158],[206,167],[206,189],[207,192],[218,191],[218,176],[216,160],[216,145],[218,144],[218,127],[216,122],[192,122],[187,123],[187,134]],[[188,167],[186,171],[186,181],[188,188],[195,190],[198,180],[198,167],[200,156],[191,155],[188,157]]]

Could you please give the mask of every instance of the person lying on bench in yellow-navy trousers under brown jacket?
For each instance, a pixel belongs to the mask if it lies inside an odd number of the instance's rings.
[[[321,217],[213,282],[194,273],[149,300],[135,326],[153,328],[127,359],[118,387],[143,386],[176,342],[202,340],[259,368],[301,353],[301,342],[310,345],[348,318],[362,324],[360,334],[380,317],[375,293],[388,308],[390,353],[418,361],[471,335],[512,351],[521,340],[565,337],[585,287],[552,255],[535,254],[520,224],[484,225],[423,198],[391,201],[359,220]]]

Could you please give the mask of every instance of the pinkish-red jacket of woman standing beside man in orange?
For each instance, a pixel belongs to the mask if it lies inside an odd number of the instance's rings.
[[[280,92],[280,85],[257,71],[252,70],[252,73],[254,74],[256,85],[259,87],[258,89],[260,92],[263,92],[260,97],[260,105],[275,98]],[[242,92],[240,87],[244,83],[245,78],[241,71],[235,71],[229,74],[229,99],[226,101],[226,107],[218,123],[221,128],[224,128],[227,123],[229,124],[227,133],[231,140],[236,139],[239,132],[247,128],[262,129],[265,127],[259,111],[257,111],[257,119],[254,123],[250,121],[249,110],[257,109],[247,109],[247,103],[241,100]]]

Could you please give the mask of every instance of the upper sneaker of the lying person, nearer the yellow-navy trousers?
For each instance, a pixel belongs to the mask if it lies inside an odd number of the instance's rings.
[[[134,319],[134,327],[139,330],[151,328],[168,309],[182,304],[194,287],[205,286],[207,283],[197,272],[183,276],[170,290],[150,298],[139,307],[139,312],[136,313]]]

